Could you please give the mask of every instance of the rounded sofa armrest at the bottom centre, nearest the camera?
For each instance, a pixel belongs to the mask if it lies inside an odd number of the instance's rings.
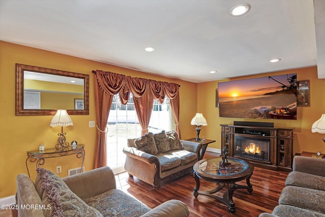
[[[188,208],[180,200],[169,200],[141,215],[142,217],[187,217]]]

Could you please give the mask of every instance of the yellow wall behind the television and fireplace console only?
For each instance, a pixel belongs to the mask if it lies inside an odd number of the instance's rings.
[[[297,73],[298,81],[309,80],[310,106],[297,107],[297,120],[219,117],[219,108],[215,107],[215,89],[218,87],[218,82],[258,78],[271,75],[283,75],[290,73]],[[325,113],[325,79],[317,78],[317,67],[286,70],[254,76],[238,77],[235,79],[199,83],[198,96],[200,96],[198,97],[198,112],[203,113],[208,122],[207,127],[201,127],[201,135],[205,135],[206,138],[209,139],[217,140],[217,142],[209,145],[209,147],[219,149],[221,148],[221,123],[233,124],[234,120],[240,120],[274,122],[275,127],[295,128],[293,154],[298,152],[301,153],[302,151],[317,152],[322,150],[322,152],[325,152],[325,145],[321,141],[321,138],[325,137],[325,135],[311,132],[312,124],[320,118],[321,114]]]

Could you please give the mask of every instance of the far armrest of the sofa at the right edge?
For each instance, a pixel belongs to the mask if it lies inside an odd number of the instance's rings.
[[[293,171],[309,173],[313,175],[325,176],[325,160],[320,158],[310,158],[304,156],[295,156],[293,162]]]

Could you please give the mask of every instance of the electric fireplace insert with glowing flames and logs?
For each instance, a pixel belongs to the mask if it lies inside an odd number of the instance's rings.
[[[269,162],[270,138],[236,135],[235,156]]]

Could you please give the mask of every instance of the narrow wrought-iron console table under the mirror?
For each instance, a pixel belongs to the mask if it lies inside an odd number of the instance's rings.
[[[68,146],[62,150],[58,150],[56,148],[45,149],[44,151],[34,150],[27,151],[27,159],[26,159],[26,168],[29,175],[27,161],[30,159],[30,162],[36,161],[36,169],[45,163],[45,158],[58,158],[62,156],[68,156],[71,154],[76,154],[77,158],[82,158],[81,169],[83,168],[83,163],[85,161],[85,145],[77,145],[77,147]]]

